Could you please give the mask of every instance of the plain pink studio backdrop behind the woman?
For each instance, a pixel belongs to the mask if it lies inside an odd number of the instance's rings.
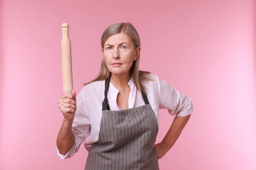
[[[74,88],[98,74],[100,36],[131,22],[140,69],[192,97],[194,114],[160,169],[256,169],[253,0],[0,1],[0,169],[83,169],[87,151],[61,161],[62,22],[70,24]],[[163,138],[171,121],[160,112]]]

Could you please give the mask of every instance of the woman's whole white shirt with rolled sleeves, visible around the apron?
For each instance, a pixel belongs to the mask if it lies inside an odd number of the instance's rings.
[[[152,81],[144,82],[148,101],[158,120],[159,109],[167,109],[171,115],[187,116],[192,113],[192,99],[186,97],[175,88],[172,88],[156,75],[149,75]],[[145,105],[142,94],[137,90],[133,80],[128,82],[131,92],[129,94],[129,109]],[[58,152],[60,159],[70,158],[78,151],[81,143],[89,148],[98,141],[100,121],[102,118],[102,101],[104,100],[105,81],[98,81],[84,86],[77,95],[77,109],[75,112],[72,132],[75,144],[65,154]],[[119,90],[111,84],[108,90],[108,105],[110,110],[122,110],[116,103]],[[87,141],[85,139],[87,138]]]

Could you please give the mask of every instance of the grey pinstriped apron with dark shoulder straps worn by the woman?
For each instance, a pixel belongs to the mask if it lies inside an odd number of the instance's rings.
[[[155,148],[158,122],[148,97],[142,93],[143,106],[110,110],[109,85],[110,79],[105,81],[98,142],[89,149],[85,169],[159,169]]]

